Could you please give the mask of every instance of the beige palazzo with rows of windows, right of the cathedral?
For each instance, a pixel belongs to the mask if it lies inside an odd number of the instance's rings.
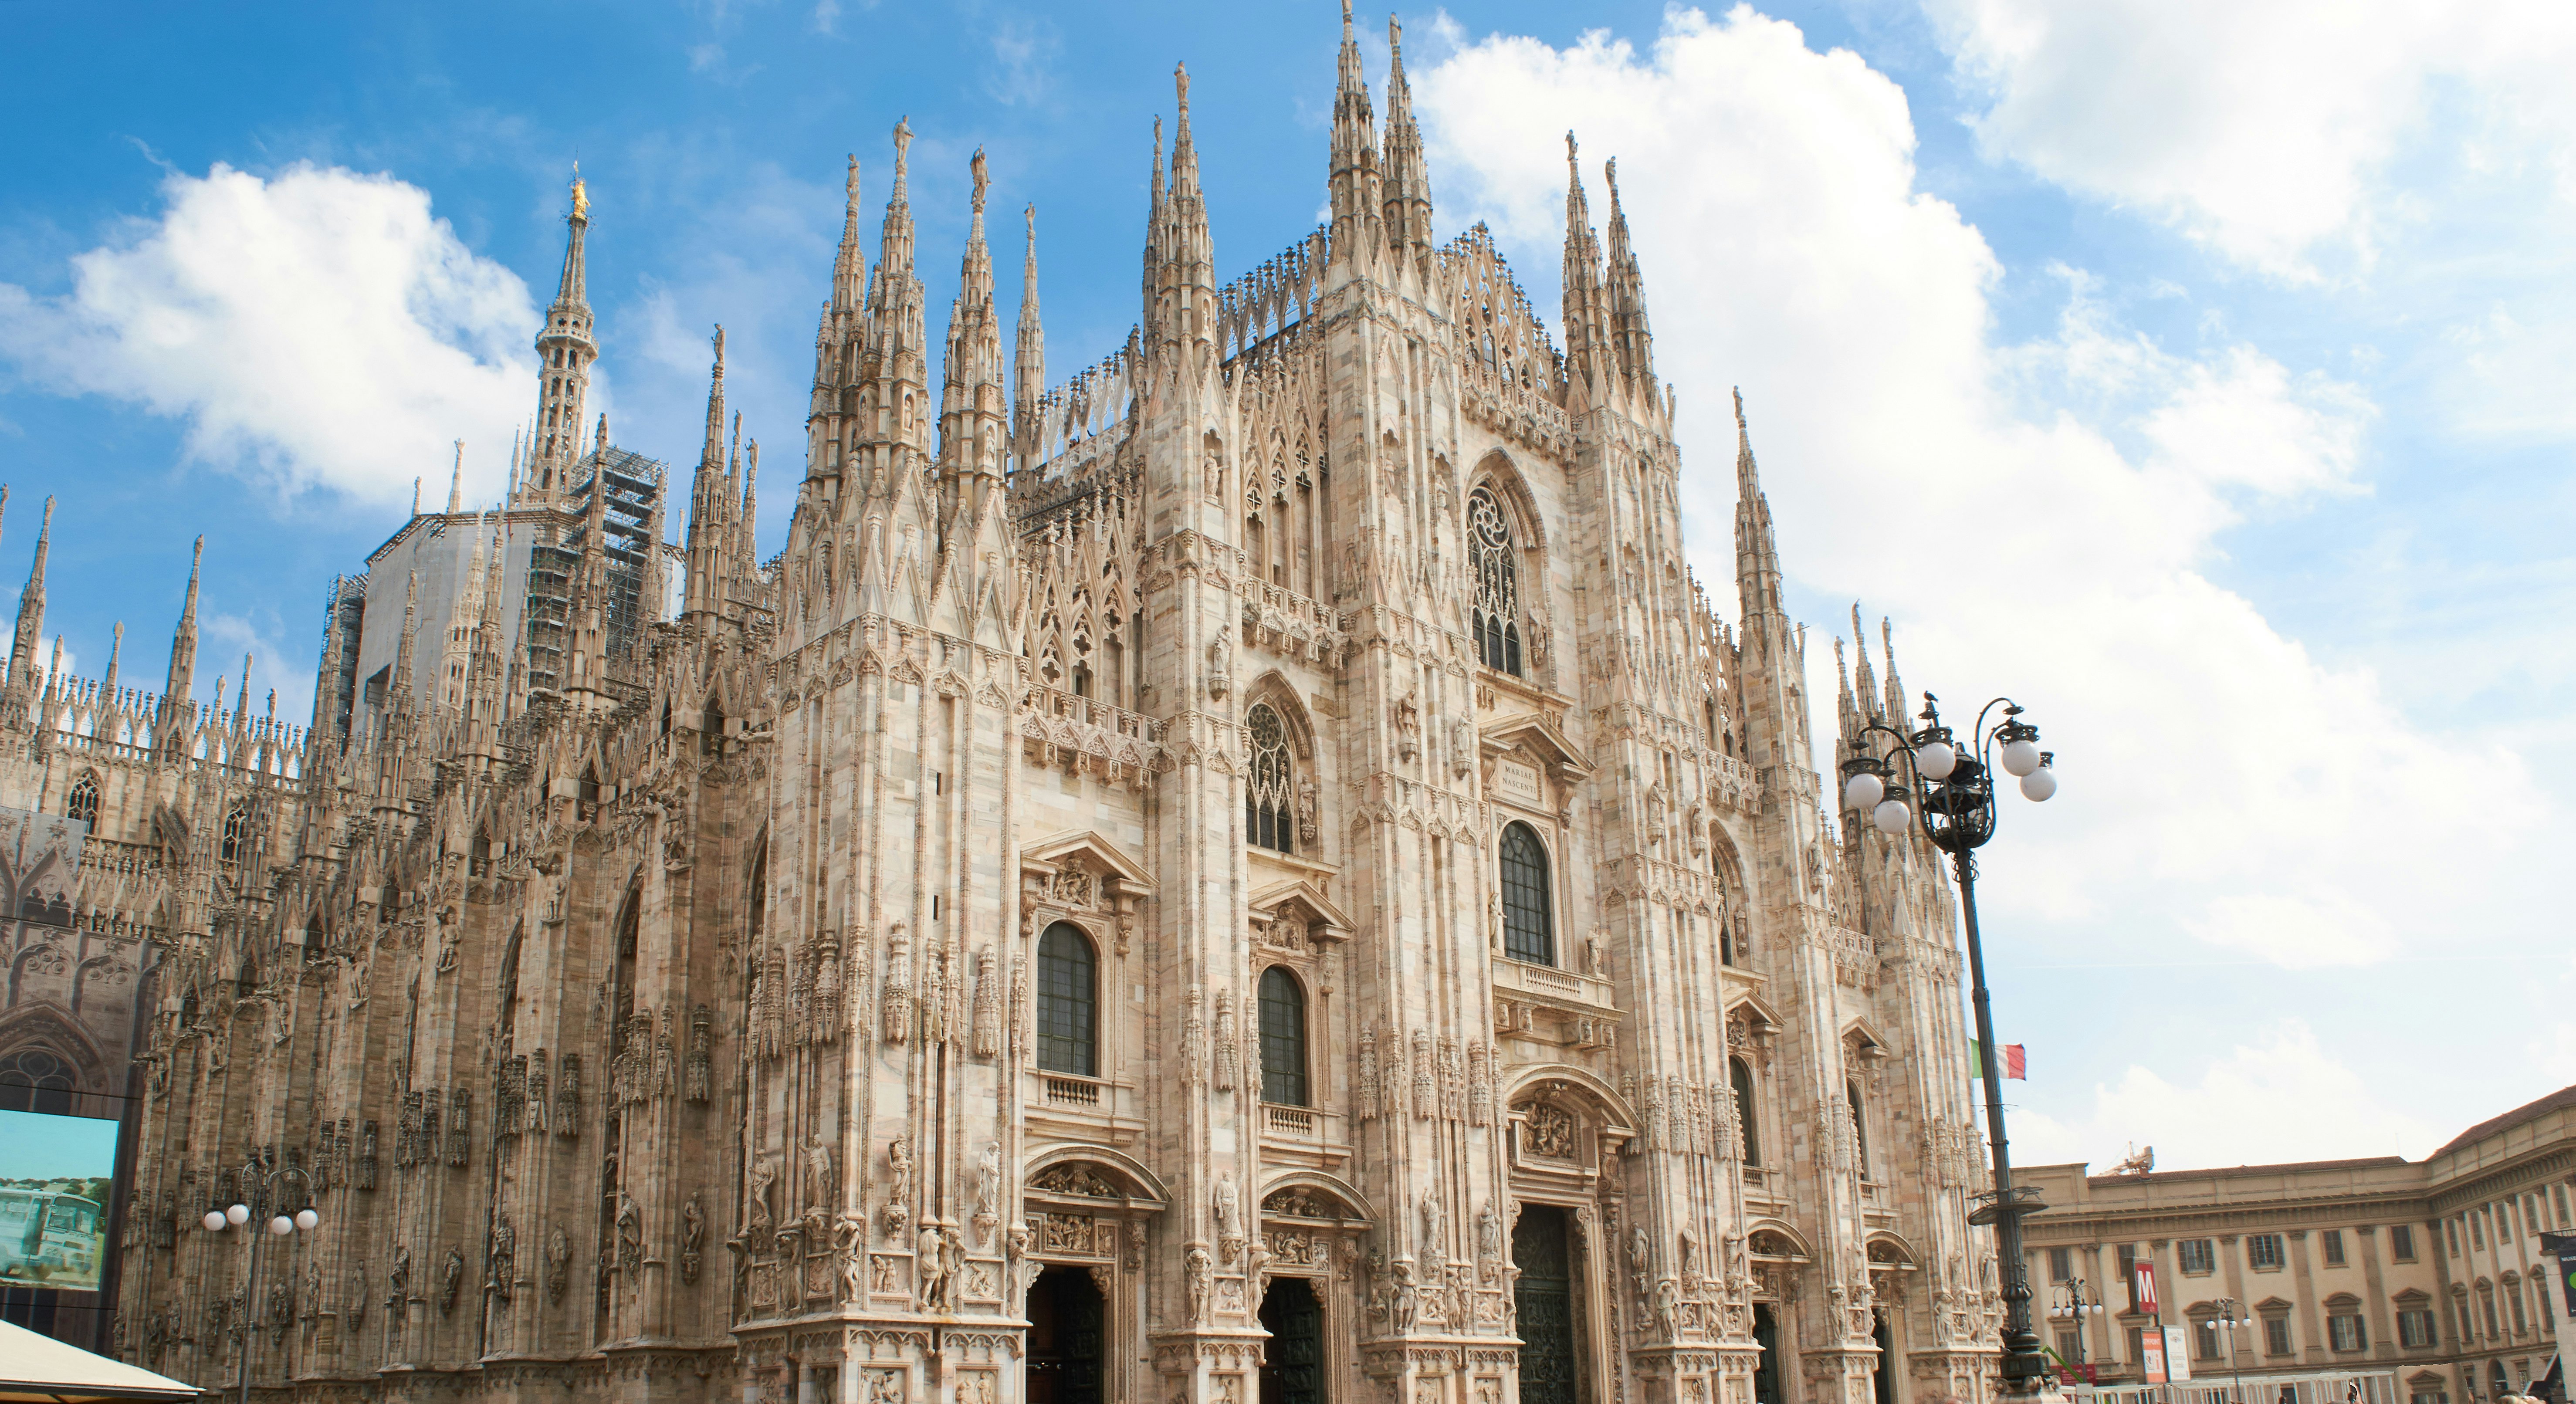
[[[2403,1157],[2087,1175],[2014,1170],[2058,1358],[2094,1365],[2102,1404],[2154,1404],[2141,1332],[2187,1327],[2174,1404],[2494,1404],[2558,1358],[2566,1304],[2540,1234],[2576,1231],[2576,1087]],[[2130,1293],[2154,1265],[2161,1319]],[[2081,1283],[2081,1288],[2076,1285]],[[2236,1329],[2221,1322],[2244,1322]],[[2110,1396],[2117,1396],[2112,1401]]]

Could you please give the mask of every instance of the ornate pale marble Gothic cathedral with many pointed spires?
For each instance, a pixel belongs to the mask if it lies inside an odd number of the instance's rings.
[[[152,927],[126,1355],[255,1345],[314,1399],[1991,1399],[1942,868],[1834,824],[1741,410],[1741,616],[1682,569],[1610,173],[1602,240],[1569,139],[1558,348],[1481,227],[1432,240],[1401,46],[1381,126],[1345,21],[1332,219],[1218,283],[1182,77],[1141,322],[1048,386],[981,155],[930,343],[907,142],[873,268],[850,165],[770,562],[716,337],[675,611],[582,489],[574,196],[510,505],[582,518],[559,652],[507,523],[443,631],[417,567],[335,593],[240,886]],[[1824,706],[1909,711],[1868,652]],[[273,1167],[325,1229],[252,1296],[196,1219]]]

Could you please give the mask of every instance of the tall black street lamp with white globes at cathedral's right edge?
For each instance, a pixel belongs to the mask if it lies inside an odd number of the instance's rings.
[[[1996,716],[2002,708],[2002,716]],[[1989,719],[1994,719],[1989,724]],[[1886,755],[1870,750],[1883,734]],[[2004,1082],[1994,1046],[1994,1002],[1986,994],[1986,951],[1976,933],[1976,850],[1994,837],[1994,770],[2020,781],[2022,799],[2045,801],[2058,793],[2056,755],[2040,750],[2040,729],[2022,721],[2012,698],[1994,698],[1976,714],[1965,745],[1940,724],[1940,698],[1924,693],[1922,729],[1899,732],[1873,721],[1852,737],[1857,755],[1842,763],[1842,806],[1868,814],[1870,827],[1901,835],[1919,824],[1932,848],[1950,855],[1958,873],[1960,922],[1968,927],[1968,979],[1976,1005],[1976,1046],[1986,1082],[1986,1139],[1994,1144],[1994,1193],[1968,1224],[1996,1226],[1996,1257],[2004,1262],[2004,1391],[2032,1394],[2048,1381],[2048,1355],[2030,1324],[2030,1267],[2022,1265],[2022,1219],[2043,1206],[2035,1190],[2012,1188],[2012,1154],[2004,1141]],[[1904,783],[1899,783],[1904,781]],[[1914,804],[1906,804],[1914,799]]]

